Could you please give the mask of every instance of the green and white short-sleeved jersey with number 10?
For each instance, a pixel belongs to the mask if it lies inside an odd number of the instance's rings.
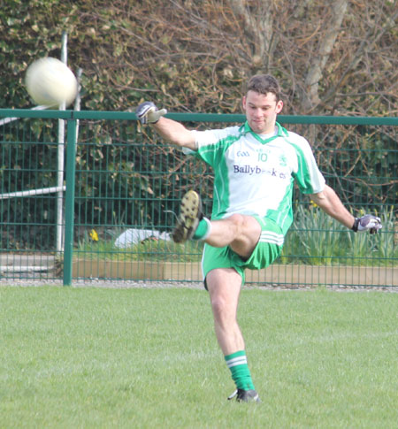
[[[278,123],[265,139],[248,123],[193,133],[197,150],[189,153],[214,170],[212,219],[257,215],[272,219],[286,234],[293,222],[294,180],[304,194],[325,187],[309,142]]]

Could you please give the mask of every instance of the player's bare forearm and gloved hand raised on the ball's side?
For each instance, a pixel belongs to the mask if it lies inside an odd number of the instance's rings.
[[[195,134],[180,122],[164,118],[166,113],[165,109],[158,110],[152,102],[141,103],[135,111],[142,125],[152,125],[167,142],[195,150]]]

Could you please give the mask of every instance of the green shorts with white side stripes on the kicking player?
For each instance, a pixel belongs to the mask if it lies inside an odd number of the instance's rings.
[[[240,274],[241,284],[243,285],[246,268],[249,268],[249,270],[260,270],[272,264],[279,257],[284,241],[284,235],[280,227],[268,218],[253,217],[256,218],[261,226],[261,235],[249,259],[243,259],[229,246],[214,248],[209,244],[205,244],[202,258],[204,281],[208,272],[215,268],[234,268]]]

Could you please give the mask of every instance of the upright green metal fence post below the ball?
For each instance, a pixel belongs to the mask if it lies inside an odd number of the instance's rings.
[[[67,120],[64,286],[72,285],[77,119]]]

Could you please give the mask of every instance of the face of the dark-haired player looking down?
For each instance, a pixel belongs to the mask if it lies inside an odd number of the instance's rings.
[[[258,94],[249,91],[242,100],[243,110],[246,113],[250,128],[256,134],[272,133],[278,113],[282,110],[283,102],[276,101],[276,96],[271,92]]]

